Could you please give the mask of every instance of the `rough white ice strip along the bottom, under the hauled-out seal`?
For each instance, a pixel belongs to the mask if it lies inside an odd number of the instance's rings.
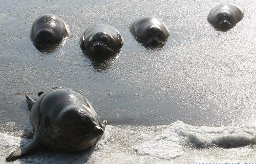
[[[0,163],[19,145],[31,141],[11,128],[13,124],[9,127],[9,132],[1,128]],[[252,162],[256,159],[255,134],[255,128],[191,126],[181,121],[159,126],[108,125],[102,139],[86,152],[41,149],[14,163]]]

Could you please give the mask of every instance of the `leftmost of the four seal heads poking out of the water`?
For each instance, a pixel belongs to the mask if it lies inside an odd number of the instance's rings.
[[[30,39],[40,48],[50,47],[69,35],[66,23],[58,16],[46,14],[38,17],[31,28]]]

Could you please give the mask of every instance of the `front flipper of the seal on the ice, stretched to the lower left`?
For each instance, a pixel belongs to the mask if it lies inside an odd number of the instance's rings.
[[[22,158],[23,156],[31,153],[33,150],[40,147],[40,142],[35,139],[30,144],[18,148],[18,150],[12,152],[7,158],[6,161],[13,161],[18,158]]]

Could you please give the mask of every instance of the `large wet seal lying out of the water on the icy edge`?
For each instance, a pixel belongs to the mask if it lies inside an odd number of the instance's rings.
[[[30,144],[12,152],[7,161],[21,158],[39,147],[60,152],[78,152],[91,148],[104,133],[90,102],[75,90],[53,88],[39,92],[34,100],[26,95],[34,128]]]

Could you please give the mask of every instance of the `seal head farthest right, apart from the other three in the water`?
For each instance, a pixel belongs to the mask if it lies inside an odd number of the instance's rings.
[[[244,17],[241,7],[233,4],[221,4],[212,9],[207,20],[216,30],[228,31]]]

